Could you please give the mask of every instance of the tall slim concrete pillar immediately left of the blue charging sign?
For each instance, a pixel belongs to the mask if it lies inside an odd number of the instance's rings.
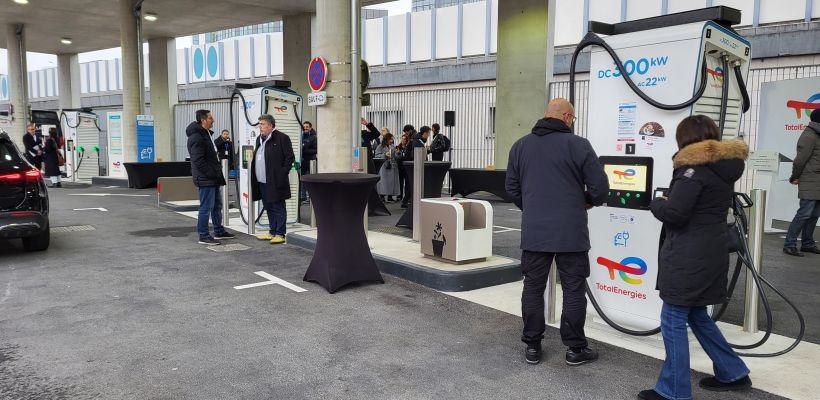
[[[140,112],[139,59],[142,46],[137,39],[131,0],[119,0],[120,46],[122,47],[122,142],[125,162],[137,161],[137,114]]]

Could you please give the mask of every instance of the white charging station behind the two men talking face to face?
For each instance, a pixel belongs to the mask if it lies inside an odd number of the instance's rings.
[[[254,209],[257,215],[248,214],[248,191],[249,171],[251,167],[251,157],[253,157],[256,138],[259,136],[258,121],[260,115],[270,114],[276,121],[274,129],[288,135],[293,146],[293,154],[297,162],[302,159],[302,96],[284,86],[264,86],[256,88],[237,89],[233,98],[240,97],[242,106],[240,120],[244,121],[244,127],[231,129],[234,135],[234,143],[240,149],[241,165],[238,176],[238,196],[242,220],[245,223],[256,221],[261,207],[258,202]],[[231,102],[233,104],[233,102]],[[233,110],[233,106],[231,106]],[[233,117],[231,121],[233,123]],[[293,224],[299,221],[299,171],[293,166],[290,170],[290,192],[291,198],[285,201],[288,212],[287,223]]]

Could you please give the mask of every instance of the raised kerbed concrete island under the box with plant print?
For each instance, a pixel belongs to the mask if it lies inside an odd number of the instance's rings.
[[[292,232],[288,244],[313,250],[315,229]],[[450,264],[424,257],[412,239],[370,231],[367,235],[376,265],[387,274],[448,292],[461,292],[515,282],[521,279],[521,262],[492,256],[472,264]]]

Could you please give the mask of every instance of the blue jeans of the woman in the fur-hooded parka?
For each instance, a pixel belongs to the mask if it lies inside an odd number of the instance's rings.
[[[706,313],[706,307],[684,307],[663,303],[661,333],[666,348],[666,359],[655,383],[655,391],[658,394],[668,399],[692,398],[687,323],[703,350],[712,359],[712,368],[718,381],[734,382],[749,375],[749,368],[729,347],[726,338]]]

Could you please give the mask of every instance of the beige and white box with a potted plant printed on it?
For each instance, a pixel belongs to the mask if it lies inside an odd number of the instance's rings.
[[[421,252],[455,263],[483,261],[493,252],[493,208],[464,198],[421,201]]]

